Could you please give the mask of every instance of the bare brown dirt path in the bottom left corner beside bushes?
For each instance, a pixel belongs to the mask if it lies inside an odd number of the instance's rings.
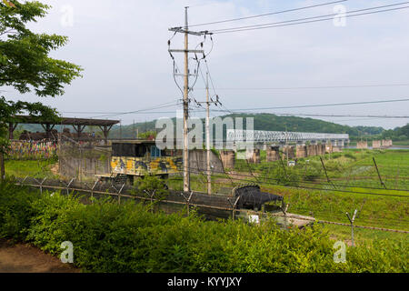
[[[25,244],[0,240],[0,273],[79,273],[57,257]]]

